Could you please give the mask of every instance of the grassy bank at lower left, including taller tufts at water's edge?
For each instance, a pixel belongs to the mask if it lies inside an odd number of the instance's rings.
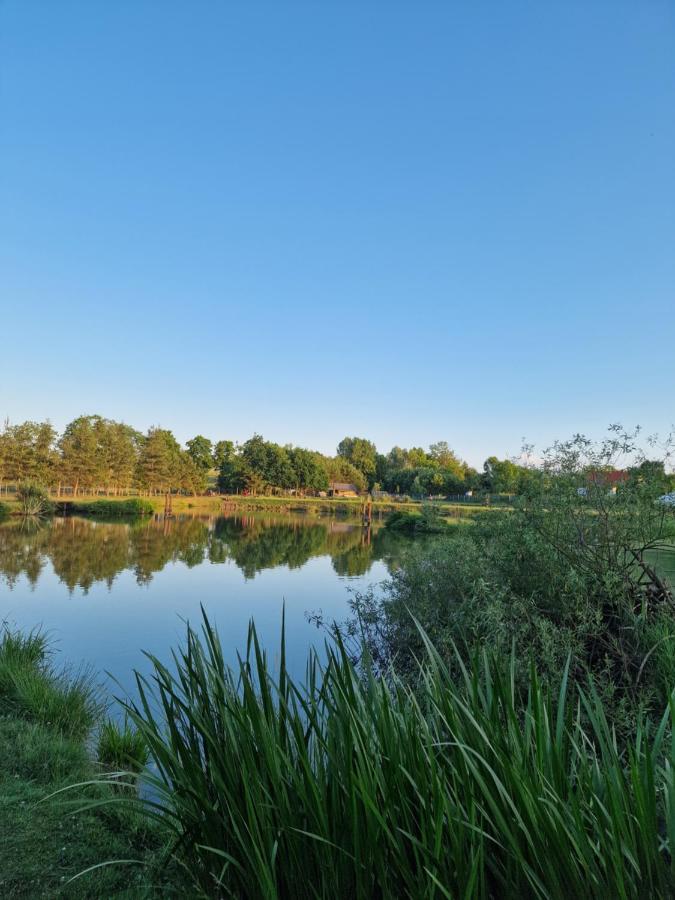
[[[103,768],[88,750],[102,713],[85,674],[51,665],[43,635],[0,639],[0,896],[164,896],[155,863],[163,841],[146,816],[109,804],[110,785],[89,784]],[[142,865],[104,867],[107,859]],[[166,882],[164,883],[166,887]]]

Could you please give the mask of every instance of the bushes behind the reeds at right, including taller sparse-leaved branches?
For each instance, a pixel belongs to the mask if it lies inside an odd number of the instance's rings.
[[[637,712],[659,710],[675,683],[675,604],[652,561],[672,552],[675,511],[655,502],[660,484],[644,472],[621,476],[612,493],[598,477],[616,471],[599,468],[610,450],[557,445],[514,510],[477,516],[408,554],[382,592],[357,595],[347,632],[365,633],[381,668],[414,675],[412,612],[447,659],[455,645],[465,657],[514,647],[523,689],[533,662],[555,683],[569,656],[571,677],[592,672],[613,724],[632,732]]]

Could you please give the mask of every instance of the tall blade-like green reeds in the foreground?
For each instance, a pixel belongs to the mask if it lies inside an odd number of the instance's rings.
[[[313,654],[306,682],[251,628],[236,669],[206,617],[125,704],[147,743],[150,815],[195,895],[668,897],[674,709],[620,750],[592,685],[523,706],[488,655],[453,681],[425,640],[420,686]],[[590,723],[590,724],[589,724]]]

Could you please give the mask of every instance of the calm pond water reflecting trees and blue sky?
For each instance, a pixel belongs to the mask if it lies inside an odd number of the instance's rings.
[[[119,695],[135,694],[134,668],[149,670],[143,650],[168,660],[200,604],[233,663],[251,618],[277,656],[285,606],[289,668],[302,677],[308,648],[323,644],[307,613],[343,620],[349,591],[381,583],[410,545],[381,523],[302,514],[11,519],[0,524],[0,621],[44,628],[59,663],[93,666]]]

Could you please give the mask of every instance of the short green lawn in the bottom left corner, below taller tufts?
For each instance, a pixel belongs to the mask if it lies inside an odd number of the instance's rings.
[[[162,840],[122,804],[82,812],[109,788],[50,796],[96,774],[81,742],[50,728],[0,717],[0,897],[161,897],[153,872]],[[107,791],[107,793],[104,793]],[[105,866],[106,860],[145,865]],[[153,886],[154,884],[154,886]]]

